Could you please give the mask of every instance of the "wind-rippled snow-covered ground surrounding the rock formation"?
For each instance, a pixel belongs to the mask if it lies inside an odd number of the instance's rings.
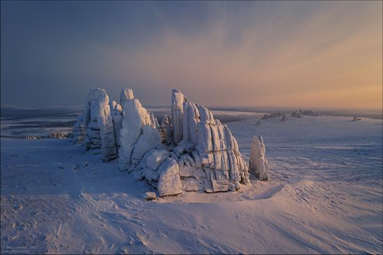
[[[155,201],[118,160],[3,139],[1,253],[382,254],[382,120],[351,119],[228,123],[247,162],[263,136],[269,180]]]

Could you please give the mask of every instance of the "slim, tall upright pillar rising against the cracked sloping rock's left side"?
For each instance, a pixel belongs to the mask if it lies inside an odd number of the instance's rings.
[[[187,102],[187,98],[178,89],[173,89],[171,95],[171,119],[173,129],[173,143],[178,146],[182,140],[182,118],[183,118],[183,103]]]

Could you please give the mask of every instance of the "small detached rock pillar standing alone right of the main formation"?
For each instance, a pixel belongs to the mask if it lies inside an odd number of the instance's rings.
[[[251,142],[250,148],[250,171],[256,174],[259,180],[267,180],[269,171],[269,164],[265,159],[265,144],[260,135],[255,135]]]

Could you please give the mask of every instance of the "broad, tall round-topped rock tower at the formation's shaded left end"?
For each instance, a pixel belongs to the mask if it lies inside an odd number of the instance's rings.
[[[84,120],[86,150],[102,152],[102,160],[114,160],[117,155],[114,125],[109,107],[109,97],[102,88],[91,88],[86,96]]]

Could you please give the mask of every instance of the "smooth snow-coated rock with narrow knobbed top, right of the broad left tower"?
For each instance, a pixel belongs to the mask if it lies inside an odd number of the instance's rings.
[[[124,118],[119,137],[120,171],[133,171],[143,155],[162,141],[154,115],[148,113],[139,100],[132,96],[133,92],[130,89],[124,89],[121,92]]]

